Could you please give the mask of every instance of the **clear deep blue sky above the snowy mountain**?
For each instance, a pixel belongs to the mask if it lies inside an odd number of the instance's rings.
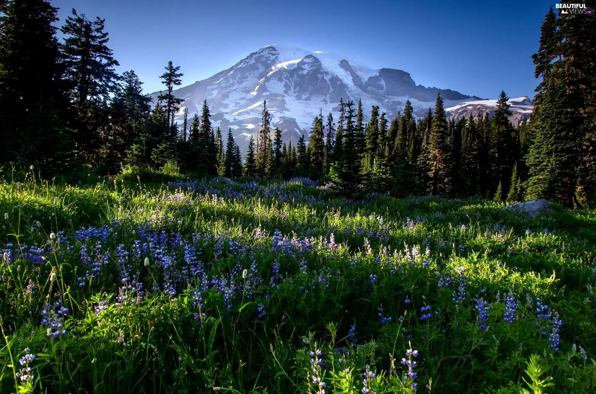
[[[183,85],[234,65],[262,46],[334,52],[373,68],[398,68],[424,86],[496,98],[534,95],[530,56],[551,2],[54,0],[105,18],[119,72],[145,92],[162,89],[167,61]]]

